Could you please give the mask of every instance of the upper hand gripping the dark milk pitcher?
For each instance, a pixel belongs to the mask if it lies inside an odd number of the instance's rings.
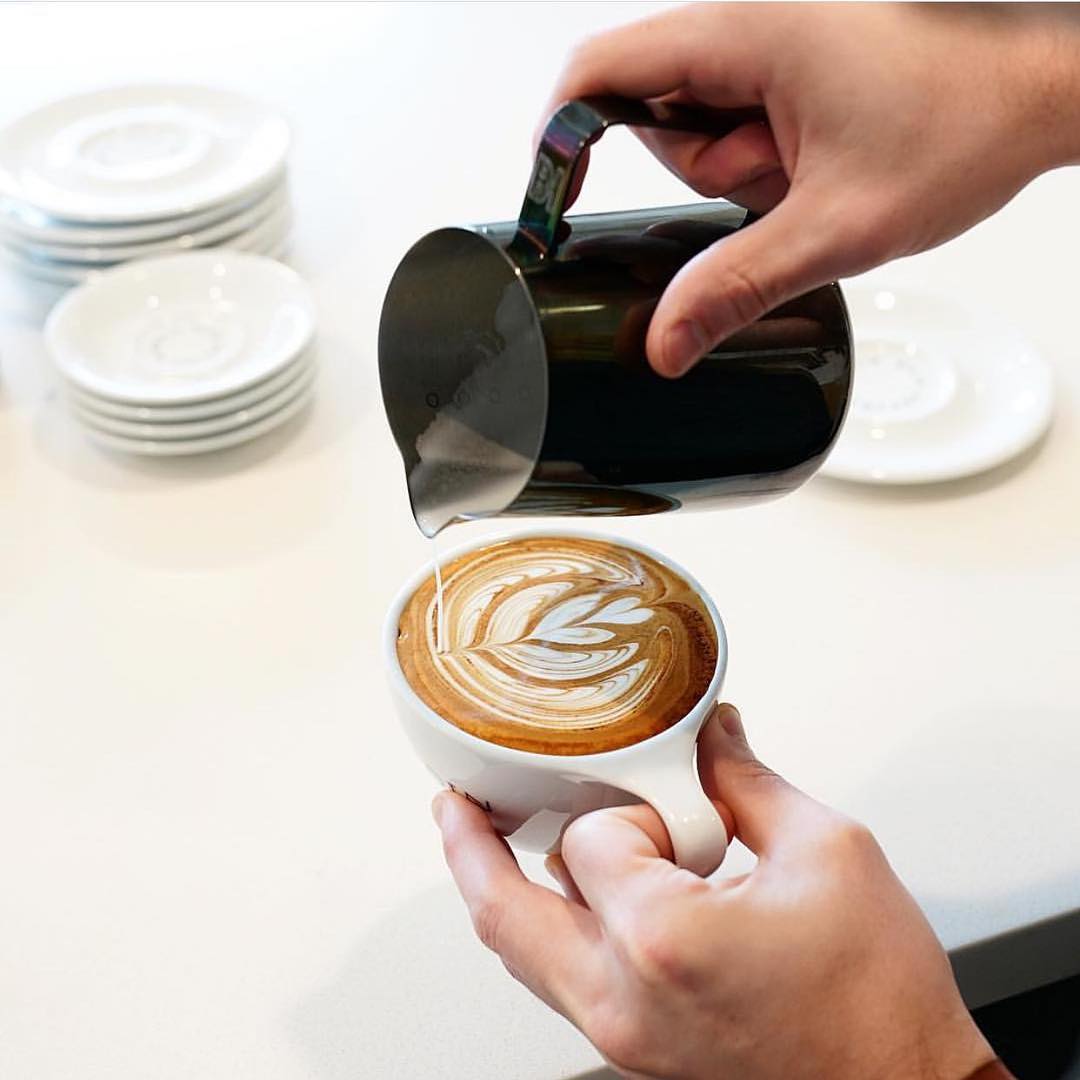
[[[671,283],[653,367],[681,375],[778,303],[941,244],[1076,160],[1075,6],[710,3],[579,46],[549,111],[622,94],[769,117],[718,140],[638,133],[700,193],[770,211]]]

